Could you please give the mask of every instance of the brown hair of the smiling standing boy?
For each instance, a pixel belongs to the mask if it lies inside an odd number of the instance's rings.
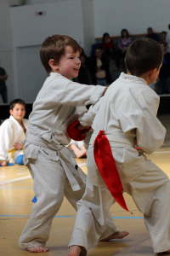
[[[65,46],[71,46],[75,53],[77,51],[81,53],[82,51],[76,40],[65,35],[54,35],[52,37],[48,37],[42,43],[40,49],[40,59],[47,73],[52,71],[48,61],[54,59],[56,64],[58,64],[60,58],[65,55]]]

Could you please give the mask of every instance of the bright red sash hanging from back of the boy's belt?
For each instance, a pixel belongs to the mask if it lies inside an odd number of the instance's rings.
[[[122,195],[122,182],[116,168],[113,154],[111,152],[110,143],[107,137],[105,137],[104,132],[105,131],[99,131],[99,135],[95,138],[94,160],[107,188],[111,192],[111,195],[123,209],[128,211],[126,202],[124,201]]]

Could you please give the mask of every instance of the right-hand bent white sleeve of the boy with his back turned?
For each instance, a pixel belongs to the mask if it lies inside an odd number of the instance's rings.
[[[128,135],[135,129],[139,148],[151,154],[161,147],[166,135],[165,127],[156,118],[159,96],[145,90],[132,93],[129,99],[117,108],[122,131]]]

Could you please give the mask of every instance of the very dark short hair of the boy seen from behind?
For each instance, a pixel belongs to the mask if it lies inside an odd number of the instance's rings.
[[[159,68],[163,59],[161,45],[150,38],[136,39],[127,49],[125,64],[134,76]]]

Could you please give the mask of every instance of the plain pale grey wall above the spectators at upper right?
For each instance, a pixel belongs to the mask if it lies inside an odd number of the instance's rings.
[[[169,10],[169,0],[94,0],[95,38],[105,32],[120,35],[122,28],[131,34],[145,33],[149,26],[167,31]]]

